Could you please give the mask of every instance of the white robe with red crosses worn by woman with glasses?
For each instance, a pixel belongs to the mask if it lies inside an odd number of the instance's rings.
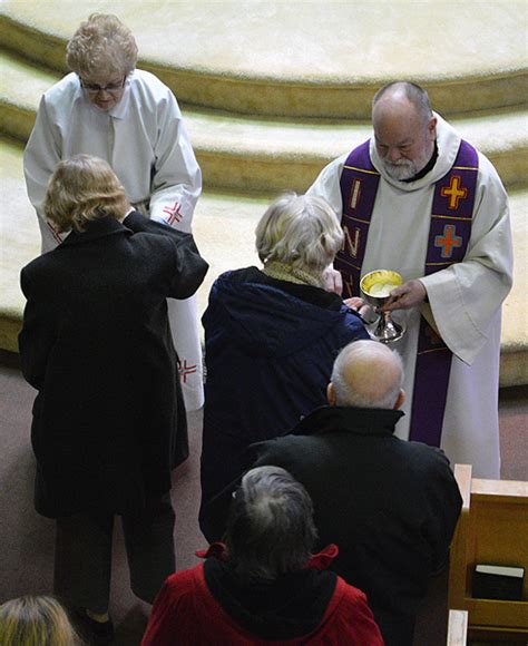
[[[23,159],[29,199],[39,216],[42,252],[60,243],[60,236],[42,217],[48,182],[61,159],[81,153],[108,161],[139,211],[190,232],[202,173],[176,98],[154,75],[131,72],[123,98],[108,111],[88,100],[75,74],[43,95]],[[169,301],[168,306],[185,403],[187,410],[196,410],[204,398],[196,301],[194,296]]]

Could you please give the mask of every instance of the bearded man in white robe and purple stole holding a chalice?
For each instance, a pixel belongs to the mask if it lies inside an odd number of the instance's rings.
[[[341,218],[345,245],[334,267],[344,296],[359,296],[373,270],[403,276],[387,306],[407,324],[394,344],[408,392],[397,434],[441,447],[479,478],[500,478],[500,311],[512,272],[506,192],[419,86],[379,90],[372,121],[373,137],[307,192]]]

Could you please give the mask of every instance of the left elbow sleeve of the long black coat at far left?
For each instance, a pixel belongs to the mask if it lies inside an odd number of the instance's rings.
[[[20,274],[20,285],[27,298],[22,330],[18,336],[22,374],[28,383],[40,390],[49,354],[57,341],[53,307],[38,295],[26,268]]]

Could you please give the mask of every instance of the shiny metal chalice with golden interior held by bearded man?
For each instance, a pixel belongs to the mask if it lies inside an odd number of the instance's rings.
[[[379,307],[389,301],[392,290],[402,284],[403,278],[400,274],[391,270],[375,270],[361,278],[361,294],[380,314],[373,335],[382,343],[393,343],[405,332],[405,326],[393,321],[390,312],[379,312]]]

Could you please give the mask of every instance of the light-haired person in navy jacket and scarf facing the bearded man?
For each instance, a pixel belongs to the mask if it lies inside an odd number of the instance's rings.
[[[246,447],[287,432],[323,405],[341,348],[369,337],[358,313],[324,288],[342,243],[325,200],[286,194],[256,228],[263,268],[226,272],[214,283],[202,320],[202,521],[204,505],[242,473]]]

